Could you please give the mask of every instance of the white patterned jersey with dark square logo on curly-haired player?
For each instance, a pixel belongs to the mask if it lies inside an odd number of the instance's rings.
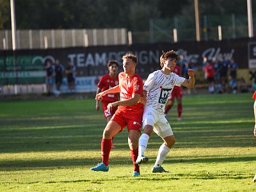
[[[173,87],[175,85],[180,86],[184,81],[184,77],[174,73],[165,75],[161,70],[152,72],[143,86],[143,90],[148,92],[145,105],[156,109],[159,113],[164,113],[166,102],[172,93]]]

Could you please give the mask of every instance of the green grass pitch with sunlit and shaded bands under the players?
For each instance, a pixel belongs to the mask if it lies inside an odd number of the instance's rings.
[[[141,177],[131,177],[127,129],[114,138],[109,172],[90,170],[106,125],[95,100],[0,102],[0,191],[256,191],[251,93],[185,95],[176,116],[175,105],[170,173],[151,173],[162,143],[153,134]]]

